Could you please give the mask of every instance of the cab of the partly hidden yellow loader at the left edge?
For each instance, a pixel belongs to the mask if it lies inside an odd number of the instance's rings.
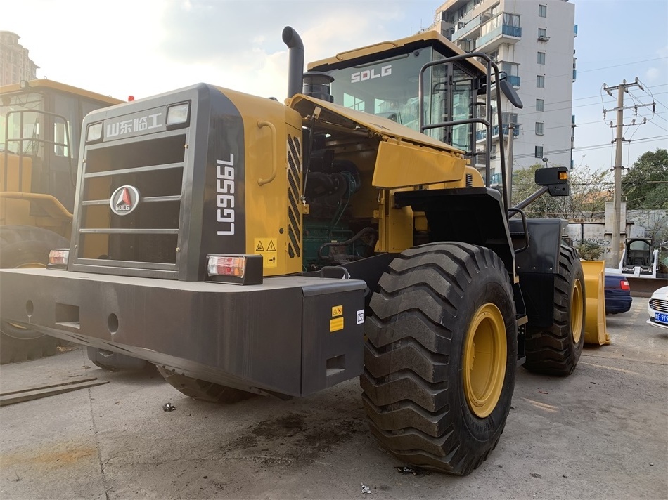
[[[82,121],[121,102],[46,79],[1,86],[0,191],[51,195],[72,211]]]

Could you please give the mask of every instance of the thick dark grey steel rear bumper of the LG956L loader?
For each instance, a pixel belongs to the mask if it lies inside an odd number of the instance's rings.
[[[227,386],[300,396],[361,374],[358,280],[264,284],[0,270],[2,320]]]

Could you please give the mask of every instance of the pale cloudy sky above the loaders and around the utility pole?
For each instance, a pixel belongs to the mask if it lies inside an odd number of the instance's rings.
[[[518,0],[536,1],[536,0]],[[37,77],[119,99],[141,98],[204,81],[283,100],[287,48],[283,27],[304,41],[306,61],[399,39],[432,23],[441,1],[371,0],[2,0],[0,30],[18,34],[39,66]],[[576,166],[609,169],[617,93],[603,84],[635,81],[625,105],[639,107],[624,127],[622,164],[668,148],[668,1],[571,0],[575,5],[577,81],[573,114]],[[627,110],[630,124],[634,111]]]

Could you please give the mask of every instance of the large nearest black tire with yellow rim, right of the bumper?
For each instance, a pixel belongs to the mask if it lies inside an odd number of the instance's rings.
[[[360,377],[371,432],[404,463],[466,475],[499,441],[515,388],[508,272],[481,246],[427,244],[379,285]]]

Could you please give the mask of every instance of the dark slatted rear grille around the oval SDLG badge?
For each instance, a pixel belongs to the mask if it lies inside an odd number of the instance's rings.
[[[86,265],[178,270],[184,185],[183,131],[86,150],[77,219],[77,261]],[[131,213],[119,216],[110,196],[128,185],[139,191]]]

